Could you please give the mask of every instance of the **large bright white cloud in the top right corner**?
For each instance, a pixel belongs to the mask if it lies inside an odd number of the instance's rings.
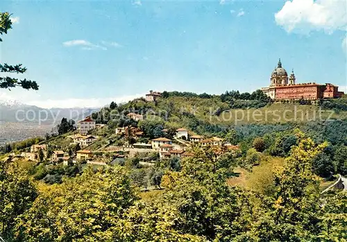
[[[287,32],[310,33],[323,30],[332,33],[347,30],[347,1],[287,1],[275,14],[276,23]]]

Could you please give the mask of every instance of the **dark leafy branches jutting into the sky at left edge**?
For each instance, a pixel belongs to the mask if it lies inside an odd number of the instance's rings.
[[[0,35],[7,34],[7,31],[12,28],[12,21],[10,19],[10,14],[8,12],[0,12]],[[0,42],[2,39],[0,38]],[[24,74],[26,72],[26,67],[22,67],[22,64],[0,64],[0,71],[9,74]],[[18,78],[12,78],[10,76],[0,77],[0,88],[14,88],[22,87],[24,89],[34,89],[38,90],[39,86],[35,81],[26,80],[26,78],[19,80]]]

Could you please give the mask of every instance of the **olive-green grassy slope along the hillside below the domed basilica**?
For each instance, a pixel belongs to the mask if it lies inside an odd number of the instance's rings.
[[[332,110],[321,110],[318,105],[298,105],[293,103],[273,103],[262,108],[246,110],[228,110],[228,104],[221,102],[219,97],[210,99],[170,97],[161,99],[157,106],[152,107],[158,114],[169,110],[169,123],[173,126],[182,124],[181,114],[189,112],[198,119],[219,125],[236,125],[248,123],[305,123],[312,120],[347,119],[347,112],[336,113]],[[216,110],[228,110],[219,116],[213,115]]]

